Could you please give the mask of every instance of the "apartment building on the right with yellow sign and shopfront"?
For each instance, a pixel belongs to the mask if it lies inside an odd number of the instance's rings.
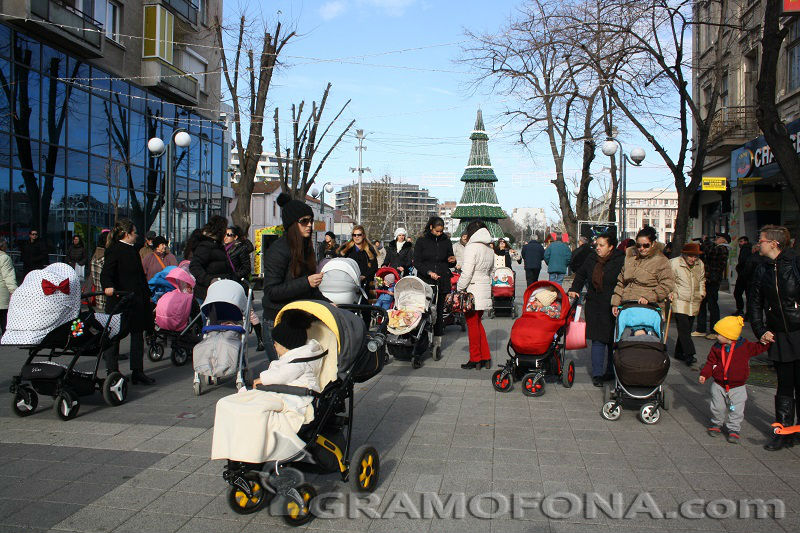
[[[792,195],[786,194],[783,176],[756,122],[765,2],[732,0],[727,6],[722,39],[717,39],[714,24],[694,26],[693,96],[705,113],[714,114],[703,176],[724,179],[704,180],[691,207],[689,237],[726,231],[734,242],[739,235],[753,240],[764,224],[783,224],[796,234],[800,210]],[[717,2],[697,2],[695,15],[700,22],[714,22],[719,20],[719,9]],[[776,96],[789,133],[796,136],[800,132],[800,21],[795,17],[784,23],[789,25],[789,35],[780,51]],[[709,109],[714,83],[709,67],[719,47],[723,48],[721,93],[716,108]]]

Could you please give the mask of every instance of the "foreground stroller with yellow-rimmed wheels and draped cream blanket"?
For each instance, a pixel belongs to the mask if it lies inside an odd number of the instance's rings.
[[[276,325],[289,310],[304,311],[315,319],[308,339],[324,349],[318,376],[322,392],[289,385],[258,386],[266,392],[313,397],[308,408],[311,412],[306,411],[306,422],[296,436],[277,439],[279,435],[273,433],[278,441],[274,447],[265,447],[263,432],[253,431],[246,419],[237,421],[247,410],[242,407],[241,402],[246,400],[239,399],[241,394],[229,397],[229,402],[223,398],[217,403],[212,459],[228,459],[222,477],[230,485],[228,504],[236,513],[254,513],[274,502],[273,512],[281,514],[289,525],[299,526],[313,517],[311,501],[317,495],[312,485],[303,482],[302,471],[338,472],[342,481],[349,481],[359,492],[372,492],[377,487],[377,450],[362,445],[352,451],[353,386],[383,369],[380,348],[387,320],[386,312],[374,306],[336,307],[327,302],[297,301],[281,309]],[[364,320],[356,314],[363,312],[383,316],[376,321],[382,324],[377,332],[367,332]],[[225,426],[220,434],[218,423]],[[267,448],[270,451],[264,451]]]

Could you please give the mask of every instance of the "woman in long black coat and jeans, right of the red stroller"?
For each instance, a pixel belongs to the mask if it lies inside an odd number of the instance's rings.
[[[614,348],[614,316],[611,296],[625,263],[625,253],[616,250],[617,236],[605,233],[597,238],[595,252],[590,254],[575,274],[569,289],[570,298],[577,298],[586,285],[586,338],[592,340],[592,385],[602,387],[611,379],[611,356]],[[605,374],[603,373],[604,365]]]

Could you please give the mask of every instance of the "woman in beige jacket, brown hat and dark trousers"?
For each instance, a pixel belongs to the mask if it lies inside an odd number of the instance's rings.
[[[692,322],[700,312],[700,302],[706,295],[706,271],[698,258],[703,252],[696,242],[685,244],[681,256],[670,259],[675,275],[675,291],[670,295],[672,314],[678,328],[678,342],[675,344],[675,359],[694,364],[694,342],[692,342]]]

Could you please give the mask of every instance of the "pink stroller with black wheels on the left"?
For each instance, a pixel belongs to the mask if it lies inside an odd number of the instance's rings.
[[[192,294],[195,279],[181,267],[167,267],[164,278],[175,289],[156,303],[156,329],[148,339],[147,356],[151,361],[164,357],[164,347],[171,342],[170,359],[175,366],[183,366],[192,357],[192,348],[202,338],[203,320],[200,306]]]

